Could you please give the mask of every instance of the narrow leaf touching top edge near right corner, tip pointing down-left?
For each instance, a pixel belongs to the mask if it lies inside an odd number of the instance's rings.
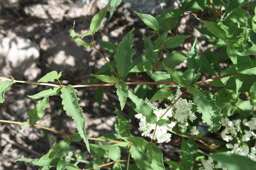
[[[224,21],[233,11],[238,9],[243,4],[248,3],[250,0],[233,0],[228,4],[228,8],[220,18],[220,22]],[[238,16],[236,17],[238,18]]]

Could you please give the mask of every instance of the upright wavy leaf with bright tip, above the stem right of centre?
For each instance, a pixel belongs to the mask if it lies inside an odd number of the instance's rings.
[[[187,58],[188,73],[186,75],[186,80],[189,82],[190,86],[195,85],[197,79],[201,75],[201,73],[199,73],[201,65],[198,64],[196,61],[196,56],[199,53],[197,51],[196,45],[197,45],[197,35],[196,35],[194,44],[191,47],[191,50],[188,51],[188,54],[187,54],[188,55],[188,58]]]

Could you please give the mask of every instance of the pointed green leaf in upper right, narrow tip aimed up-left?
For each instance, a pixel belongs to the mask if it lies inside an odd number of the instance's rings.
[[[218,24],[216,24],[215,22],[203,21],[200,18],[197,18],[197,19],[207,26],[208,31],[210,31],[211,33],[216,35],[219,39],[221,39],[223,41],[227,41],[227,39],[228,39],[227,33]]]

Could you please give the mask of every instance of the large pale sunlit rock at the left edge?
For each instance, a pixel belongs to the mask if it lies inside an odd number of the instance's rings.
[[[27,38],[17,36],[0,39],[0,71],[5,76],[34,80],[40,71],[36,67],[39,56],[39,47]]]

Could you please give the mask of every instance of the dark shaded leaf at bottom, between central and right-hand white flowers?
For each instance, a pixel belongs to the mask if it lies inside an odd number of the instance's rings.
[[[187,141],[182,137],[182,143],[180,147],[180,162],[186,170],[190,170],[192,164],[196,161],[197,145],[195,140],[188,139]]]

